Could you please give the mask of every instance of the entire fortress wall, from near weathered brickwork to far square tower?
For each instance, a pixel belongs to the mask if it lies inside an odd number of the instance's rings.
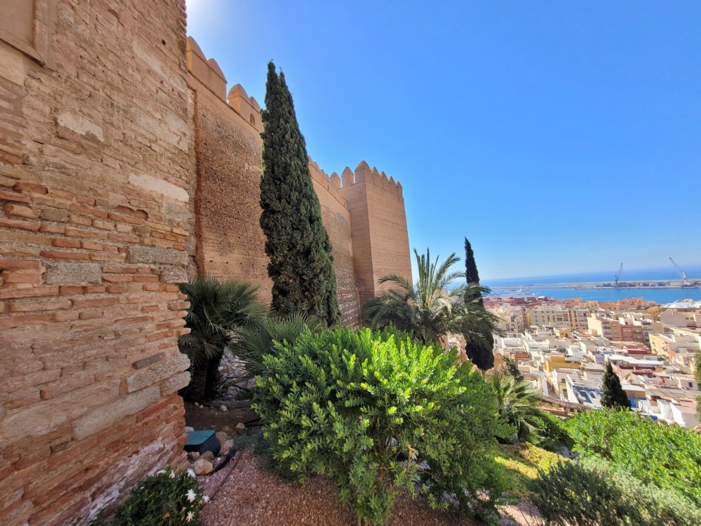
[[[259,107],[184,10],[0,2],[3,526],[71,524],[184,461],[177,283],[233,274],[269,299]],[[310,168],[353,325],[376,277],[411,274],[402,188]]]

